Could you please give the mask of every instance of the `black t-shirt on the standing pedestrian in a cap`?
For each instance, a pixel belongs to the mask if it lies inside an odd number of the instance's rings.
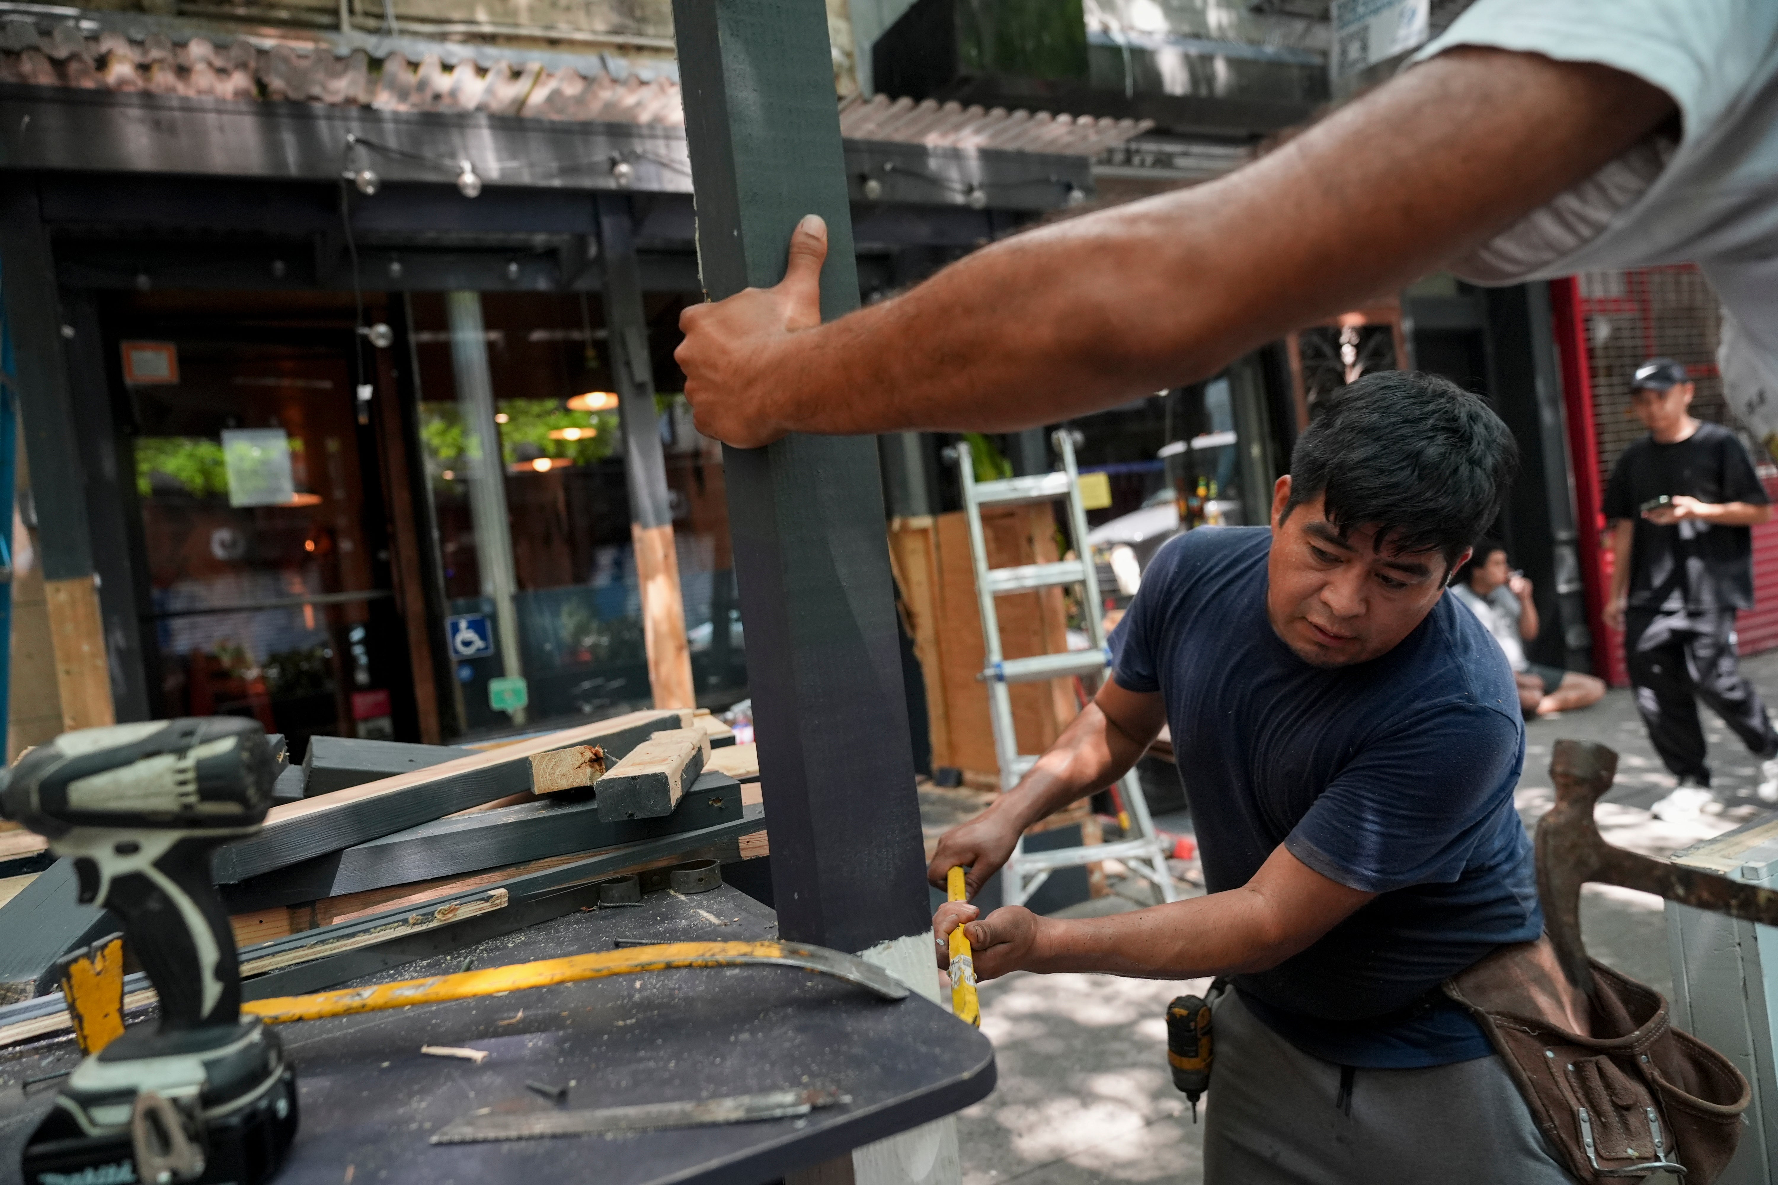
[[[1753,608],[1753,533],[1682,519],[1659,526],[1643,503],[1689,496],[1703,503],[1771,501],[1748,449],[1723,425],[1703,421],[1675,444],[1636,441],[1611,467],[1606,517],[1630,519],[1630,608],[1673,613]]]

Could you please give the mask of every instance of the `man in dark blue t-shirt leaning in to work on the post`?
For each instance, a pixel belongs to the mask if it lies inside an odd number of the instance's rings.
[[[1211,1185],[1566,1181],[1449,975],[1543,929],[1513,808],[1524,720],[1451,574],[1499,513],[1517,449],[1481,398],[1401,371],[1323,402],[1271,528],[1172,540],[1113,636],[1093,704],[1026,778],[939,842],[971,892],[1044,815],[1127,771],[1161,725],[1207,895],[967,924],[1012,970],[1232,977],[1216,1006]]]

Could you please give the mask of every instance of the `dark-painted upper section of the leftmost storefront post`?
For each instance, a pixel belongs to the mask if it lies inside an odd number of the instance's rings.
[[[37,185],[21,174],[0,174],[0,284],[5,286],[18,366],[20,439],[30,460],[43,577],[64,581],[89,576],[92,533],[87,524],[85,465],[62,354],[55,261],[39,217]]]

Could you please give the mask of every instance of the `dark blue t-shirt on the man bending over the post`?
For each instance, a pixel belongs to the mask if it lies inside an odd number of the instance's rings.
[[[1543,931],[1513,808],[1526,728],[1513,672],[1476,615],[1440,597],[1394,650],[1323,668],[1266,618],[1266,528],[1168,542],[1113,634],[1113,675],[1159,691],[1209,892],[1278,844],[1380,894],[1307,950],[1236,975],[1298,1048],[1360,1068],[1492,1054],[1438,984]]]

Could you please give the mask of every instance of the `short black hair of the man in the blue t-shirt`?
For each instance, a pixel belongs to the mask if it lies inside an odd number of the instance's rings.
[[[1449,378],[1385,370],[1325,394],[1291,451],[1287,519],[1326,496],[1346,535],[1376,528],[1376,549],[1444,553],[1456,563],[1501,512],[1518,446],[1488,403]]]

